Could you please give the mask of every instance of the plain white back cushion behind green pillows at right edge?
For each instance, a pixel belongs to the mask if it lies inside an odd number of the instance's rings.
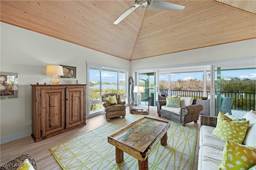
[[[246,119],[246,121],[249,121],[249,126],[246,132],[246,135],[244,137],[243,144],[244,145],[250,145],[254,146],[256,145],[256,112],[251,110],[246,115],[244,115],[243,118]]]

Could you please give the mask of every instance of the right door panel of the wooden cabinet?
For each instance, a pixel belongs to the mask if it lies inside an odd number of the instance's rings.
[[[66,128],[82,124],[84,121],[84,89],[66,89]]]

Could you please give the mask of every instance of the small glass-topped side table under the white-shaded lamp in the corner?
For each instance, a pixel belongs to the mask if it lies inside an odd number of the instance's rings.
[[[149,114],[149,103],[147,101],[141,101],[140,103],[133,101],[130,103],[130,113],[131,114]]]

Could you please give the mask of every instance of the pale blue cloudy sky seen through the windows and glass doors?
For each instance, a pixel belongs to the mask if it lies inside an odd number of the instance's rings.
[[[209,72],[207,72],[208,75]],[[116,82],[117,81],[117,72],[113,71],[102,71],[102,82]],[[242,69],[242,70],[228,70],[228,71],[222,71],[221,72],[222,78],[232,78],[232,77],[238,77],[240,79],[248,78],[248,79],[256,79],[256,69]],[[208,76],[207,76],[208,78]],[[124,81],[125,74],[120,73],[119,75],[120,81]],[[178,79],[181,80],[188,80],[188,79],[197,79],[202,80],[203,79],[203,73],[202,72],[194,72],[194,73],[174,73],[171,74],[171,81],[177,81]],[[100,80],[100,72],[96,69],[90,69],[90,81],[99,81]],[[168,74],[161,74],[159,75],[159,80],[166,80],[168,81]],[[150,79],[152,82],[153,79]]]

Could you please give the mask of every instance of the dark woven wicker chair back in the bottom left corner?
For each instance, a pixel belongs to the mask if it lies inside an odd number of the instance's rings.
[[[16,170],[19,168],[19,166],[22,164],[24,160],[28,159],[30,164],[34,167],[36,170],[36,161],[32,156],[29,154],[23,154],[18,156],[17,158],[11,160],[8,163],[1,163],[0,170]]]

